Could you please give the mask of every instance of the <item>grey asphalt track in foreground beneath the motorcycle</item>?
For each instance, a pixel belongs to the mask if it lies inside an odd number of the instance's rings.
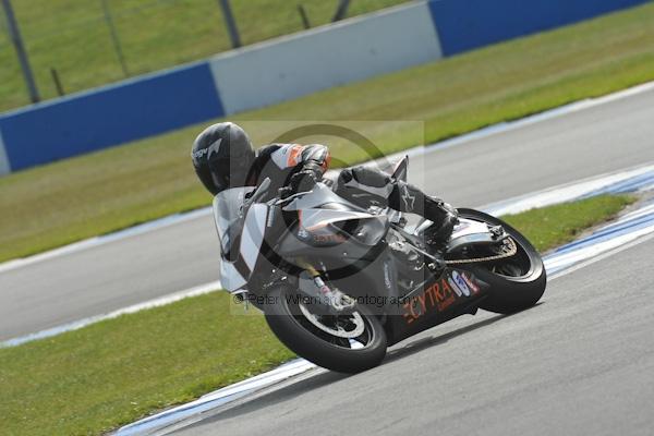
[[[550,281],[542,302],[410,338],[179,435],[651,435],[654,239]]]

